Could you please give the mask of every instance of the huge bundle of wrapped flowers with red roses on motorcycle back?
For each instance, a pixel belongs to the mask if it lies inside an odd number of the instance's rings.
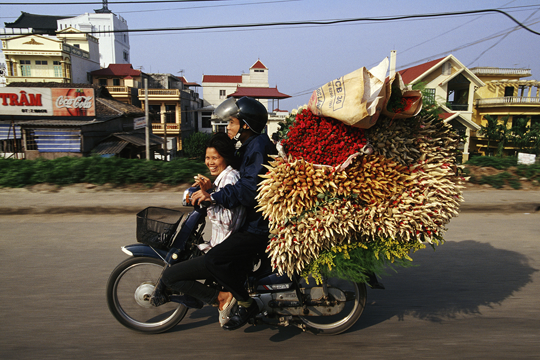
[[[300,108],[259,187],[273,267],[365,281],[443,241],[458,214],[459,137],[436,117],[379,118],[369,129]]]

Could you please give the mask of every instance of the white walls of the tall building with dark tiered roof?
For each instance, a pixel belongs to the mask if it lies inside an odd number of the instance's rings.
[[[103,32],[113,30],[127,30],[127,22],[121,16],[112,12],[84,13],[72,18],[57,21],[58,30],[75,28],[84,32],[91,32],[99,39],[99,64],[107,67],[109,64],[130,63],[130,42],[127,32]]]

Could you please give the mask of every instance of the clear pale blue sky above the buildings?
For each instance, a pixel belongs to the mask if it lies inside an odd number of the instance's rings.
[[[119,0],[120,1],[120,0]],[[122,0],[125,1],[125,0]],[[136,0],[140,1],[140,0]],[[54,4],[47,4],[47,2]],[[102,4],[60,4],[60,0],[0,0],[0,22],[14,22],[21,11],[40,15],[93,12]],[[90,2],[87,0],[86,2]],[[35,3],[35,4],[21,4]],[[499,9],[540,32],[540,0],[213,0],[169,3],[115,3],[109,9],[130,30],[189,26],[268,24],[332,19]],[[306,104],[313,90],[360,67],[371,69],[396,50],[396,69],[454,55],[467,67],[531,69],[525,79],[540,80],[540,36],[502,13],[356,21],[335,25],[280,25],[242,29],[131,32],[134,69],[171,73],[201,84],[203,74],[240,75],[258,59],[268,67],[269,86],[292,98],[281,110]],[[198,88],[204,97],[202,87]],[[277,105],[275,104],[275,107]]]

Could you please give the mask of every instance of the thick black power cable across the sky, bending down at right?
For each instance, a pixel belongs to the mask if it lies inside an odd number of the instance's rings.
[[[356,23],[356,22],[361,22],[361,21],[387,22],[387,21],[396,21],[396,20],[414,19],[414,18],[434,18],[434,17],[470,15],[470,14],[488,13],[488,12],[501,13],[502,15],[507,16],[513,22],[518,24],[518,26],[521,26],[521,28],[531,33],[534,33],[535,35],[540,35],[540,32],[529,29],[527,26],[517,21],[509,13],[504,12],[502,10],[498,10],[498,9],[454,11],[454,12],[428,13],[428,14],[417,14],[417,15],[402,15],[402,16],[393,16],[393,17],[377,17],[377,18],[351,18],[351,19],[293,21],[293,22],[276,22],[276,23],[185,26],[183,28],[153,28],[153,29],[106,30],[106,31],[97,31],[97,32],[96,31],[82,31],[82,32],[92,34],[92,33],[116,33],[116,32],[156,32],[156,31],[194,31],[194,30],[196,31],[196,30],[208,30],[208,29],[241,29],[241,28],[261,28],[261,27],[291,26],[291,25],[321,25],[322,26],[322,25],[334,25],[334,24],[344,24],[344,23]]]

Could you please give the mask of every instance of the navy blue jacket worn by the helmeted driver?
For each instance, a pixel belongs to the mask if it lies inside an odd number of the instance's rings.
[[[274,143],[267,134],[253,135],[248,138],[238,150],[240,159],[240,179],[235,184],[229,184],[212,194],[212,198],[218,204],[227,209],[244,205],[246,207],[246,221],[242,230],[254,234],[268,234],[268,220],[262,218],[261,212],[257,212],[257,188],[263,179],[259,175],[266,174],[270,158],[268,155],[276,155]]]

